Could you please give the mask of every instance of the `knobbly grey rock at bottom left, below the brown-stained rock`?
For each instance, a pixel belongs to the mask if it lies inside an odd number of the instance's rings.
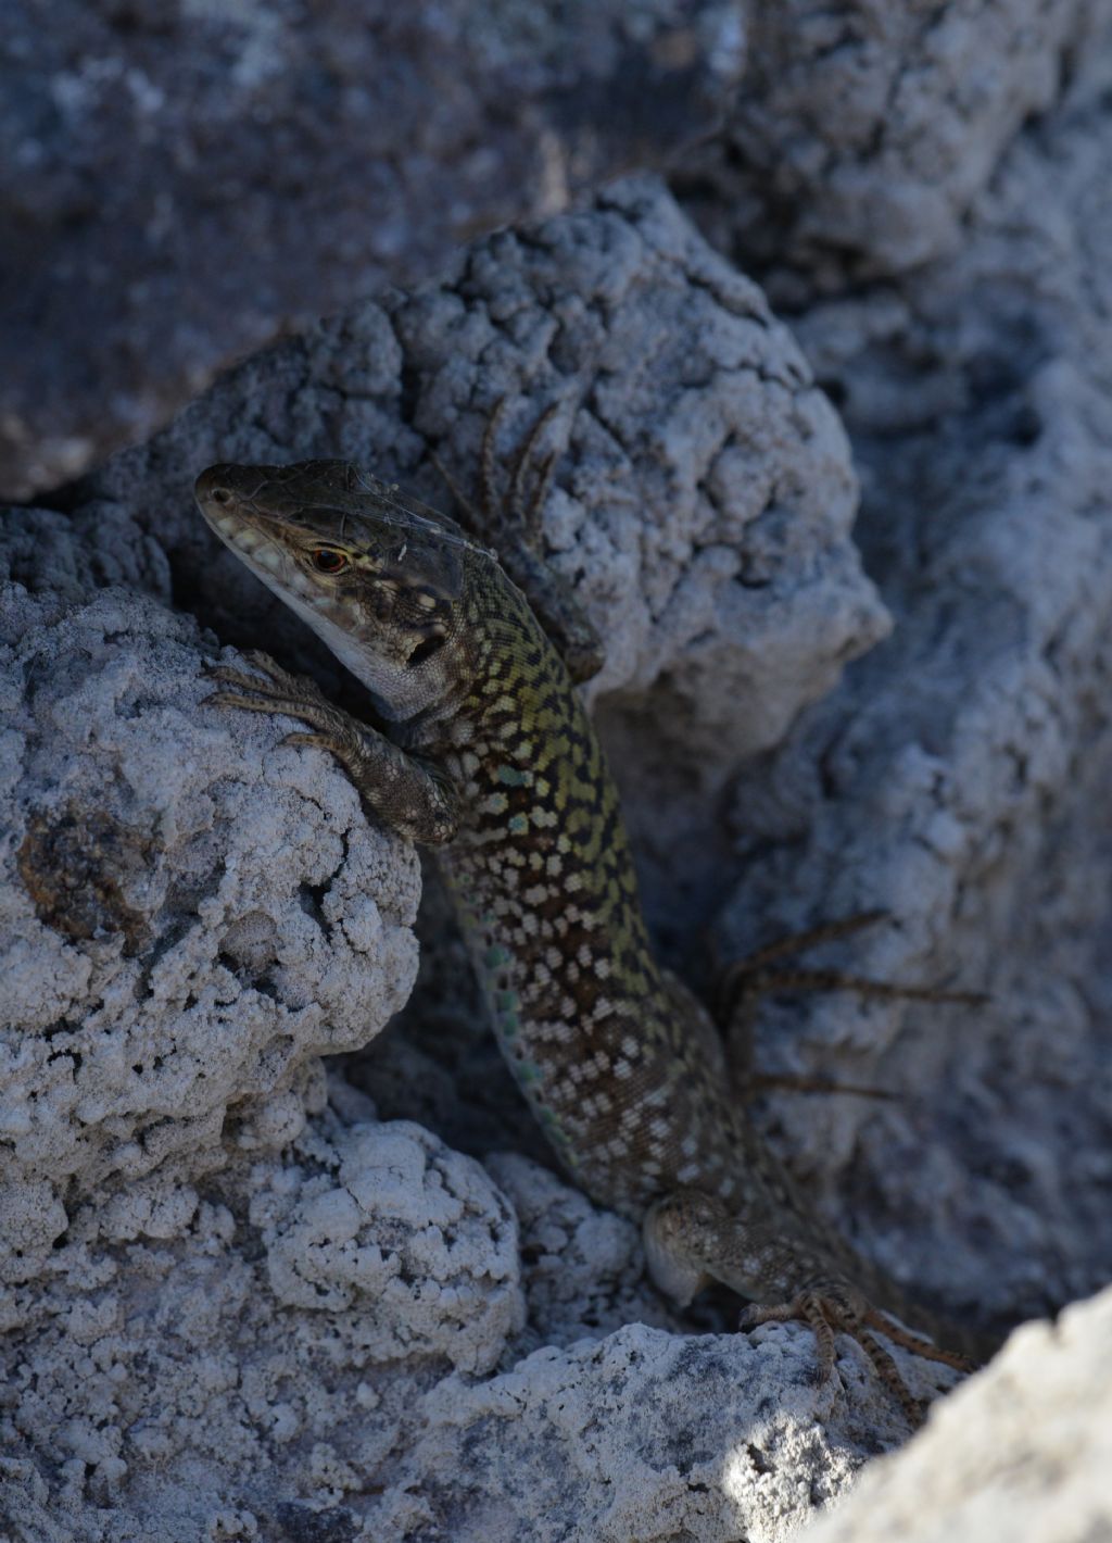
[[[77,1208],[0,1395],[63,1535],[298,1537],[302,1500],[310,1529],[412,1443],[438,1372],[490,1370],[521,1322],[514,1216],[475,1162],[372,1116],[341,1086],[205,1197],[165,1177]],[[29,1467],[9,1486],[17,1535],[49,1537]]]

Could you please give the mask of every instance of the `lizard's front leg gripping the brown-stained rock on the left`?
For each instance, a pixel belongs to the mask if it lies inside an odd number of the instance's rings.
[[[367,807],[392,830],[426,846],[440,846],[455,836],[460,821],[453,790],[446,778],[406,755],[376,728],[336,707],[315,680],[290,674],[259,650],[251,650],[244,657],[261,674],[216,665],[208,674],[230,690],[214,691],[205,702],[301,719],[310,725],[310,731],[290,733],[282,744],[330,750]]]

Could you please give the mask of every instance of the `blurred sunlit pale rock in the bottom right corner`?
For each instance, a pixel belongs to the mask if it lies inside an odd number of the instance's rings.
[[[1112,1291],[1029,1324],[808,1543],[1092,1543],[1112,1532]]]

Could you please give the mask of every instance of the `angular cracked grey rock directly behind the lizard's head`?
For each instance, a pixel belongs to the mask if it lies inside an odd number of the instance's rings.
[[[697,889],[677,850],[700,849],[723,778],[776,744],[888,619],[850,537],[856,480],[837,415],[760,290],[657,181],[501,231],[436,284],[247,361],[93,477],[74,520],[105,506],[134,518],[221,637],[267,639],[333,684],[327,651],[197,518],[199,468],[344,454],[447,506],[429,452],[470,488],[501,397],[506,458],[541,407],[561,404],[544,539],[606,639],[591,693],[608,699],[618,773],[637,768],[623,792],[649,893],[674,910],[677,880]]]

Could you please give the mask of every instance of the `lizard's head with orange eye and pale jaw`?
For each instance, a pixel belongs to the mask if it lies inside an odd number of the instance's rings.
[[[210,466],[194,495],[221,540],[386,716],[407,719],[444,701],[466,673],[464,572],[489,554],[453,520],[350,461]]]

